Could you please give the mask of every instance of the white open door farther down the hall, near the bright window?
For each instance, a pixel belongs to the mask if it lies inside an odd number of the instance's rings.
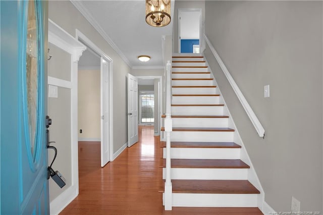
[[[138,79],[128,73],[128,147],[138,142]]]

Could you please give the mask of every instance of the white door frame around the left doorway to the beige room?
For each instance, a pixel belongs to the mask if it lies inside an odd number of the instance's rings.
[[[110,119],[110,161],[113,161],[113,60],[107,56],[98,46],[96,46],[88,37],[86,37],[81,31],[76,29],[76,39],[79,40],[81,39],[83,42],[86,43],[88,47],[90,47],[92,50],[94,50],[100,57],[102,57],[105,61],[109,62],[109,71],[110,71],[110,76],[109,76],[109,119]],[[77,76],[76,76],[77,77]],[[73,82],[77,83],[77,79],[73,80]],[[102,88],[102,86],[101,86]],[[77,126],[77,120],[74,121],[73,123],[76,123]],[[75,176],[78,177],[78,176]]]

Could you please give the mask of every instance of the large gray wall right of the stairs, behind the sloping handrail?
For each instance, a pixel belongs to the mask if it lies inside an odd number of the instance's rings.
[[[259,138],[219,65],[205,56],[277,211],[322,211],[322,2],[206,1],[206,35],[263,124]],[[270,84],[271,96],[263,97]]]

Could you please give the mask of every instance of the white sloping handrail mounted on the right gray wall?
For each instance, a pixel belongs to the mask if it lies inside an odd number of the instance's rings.
[[[241,102],[245,112],[247,113],[252,125],[256,129],[259,137],[264,137],[264,128],[262,127],[261,123],[259,122],[257,116],[252,111],[251,106],[249,105],[248,101],[246,100],[246,98],[242,94],[242,92],[239,89],[238,85],[236,84],[236,82],[232,78],[231,74],[229,73],[226,65],[223,63],[220,56],[218,55],[218,52],[216,51],[216,49],[214,49],[213,45],[211,44],[211,42],[209,41],[209,39],[207,38],[207,36],[205,34],[204,34],[204,38],[205,38],[205,41],[208,44],[211,52],[213,53],[214,58],[216,58],[216,60],[218,61],[223,73],[227,77],[229,83],[231,84],[231,87],[233,88],[234,92],[238,96],[239,101]]]

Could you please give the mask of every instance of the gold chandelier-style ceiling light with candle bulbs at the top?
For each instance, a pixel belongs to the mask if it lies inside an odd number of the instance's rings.
[[[146,0],[146,23],[163,27],[171,22],[171,0]]]

